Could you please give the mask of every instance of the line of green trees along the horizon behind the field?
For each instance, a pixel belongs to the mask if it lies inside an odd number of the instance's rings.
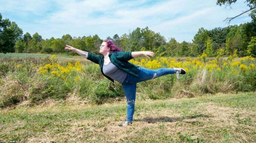
[[[192,42],[177,42],[175,38],[168,40],[160,33],[150,30],[149,27],[129,30],[122,36],[115,34],[107,37],[120,47],[122,51],[150,50],[161,56],[198,56],[206,53],[208,57],[215,56],[223,49],[225,55],[231,55],[235,50],[242,56],[256,56],[256,22],[253,20],[240,25],[216,27],[206,30],[203,27],[195,34]],[[72,37],[69,34],[61,38],[42,39],[35,33],[23,34],[23,30],[9,19],[2,19],[0,13],[0,52],[2,53],[77,53],[65,50],[65,45],[71,45],[80,50],[98,55],[99,46],[104,40],[97,34],[94,36]]]

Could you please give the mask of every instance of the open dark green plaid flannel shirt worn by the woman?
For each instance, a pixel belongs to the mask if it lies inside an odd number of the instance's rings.
[[[130,73],[133,76],[137,76],[139,77],[140,71],[137,69],[138,66],[129,63],[128,61],[130,59],[133,59],[133,57],[131,56],[131,52],[111,52],[108,55],[110,57],[110,61],[112,62],[112,64],[114,64],[116,67],[126,71],[127,73]],[[87,59],[100,65],[100,69],[101,69],[101,73],[109,80],[111,80],[111,82],[114,82],[113,79],[111,79],[109,76],[106,76],[103,73],[103,64],[104,64],[104,56],[95,56],[92,53],[88,52],[88,56]]]

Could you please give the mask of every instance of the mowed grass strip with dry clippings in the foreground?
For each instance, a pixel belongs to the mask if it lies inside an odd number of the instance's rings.
[[[256,93],[92,105],[76,97],[1,109],[0,142],[256,142]]]

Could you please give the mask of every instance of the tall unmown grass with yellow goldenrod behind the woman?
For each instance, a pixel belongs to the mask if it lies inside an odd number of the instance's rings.
[[[182,67],[187,74],[167,75],[137,84],[137,98],[165,99],[187,93],[227,93],[254,91],[255,60],[245,58],[137,58],[130,62],[141,67]],[[102,104],[124,96],[121,84],[112,83],[88,60],[56,57],[0,57],[0,107],[47,97],[65,99],[68,93]],[[183,92],[184,91],[184,92]]]

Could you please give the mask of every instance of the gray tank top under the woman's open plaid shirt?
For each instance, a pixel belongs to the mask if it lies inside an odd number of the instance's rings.
[[[103,64],[102,70],[105,75],[109,76],[111,79],[114,79],[119,83],[123,83],[125,77],[127,76],[126,71],[119,69],[114,64],[112,64],[111,61],[107,65]]]

